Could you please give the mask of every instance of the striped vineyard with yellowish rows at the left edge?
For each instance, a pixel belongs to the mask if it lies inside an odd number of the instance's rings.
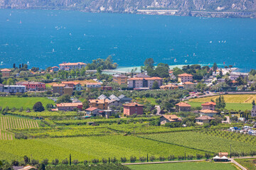
[[[34,120],[0,116],[0,140],[14,140],[14,133],[9,130],[38,128]]]

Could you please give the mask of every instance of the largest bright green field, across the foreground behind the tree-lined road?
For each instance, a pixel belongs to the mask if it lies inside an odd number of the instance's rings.
[[[33,159],[49,160],[68,158],[72,154],[73,159],[91,160],[108,157],[139,156],[146,157],[146,154],[159,157],[167,157],[169,154],[183,154],[185,148],[176,145],[145,140],[134,136],[107,135],[94,137],[60,137],[29,140],[1,140],[0,159],[19,159],[24,155],[33,156]],[[204,154],[196,149],[186,148],[187,154]]]

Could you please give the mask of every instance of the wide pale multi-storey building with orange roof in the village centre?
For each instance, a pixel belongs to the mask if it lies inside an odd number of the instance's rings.
[[[160,77],[134,77],[128,79],[128,87],[133,89],[152,89],[154,81],[161,86],[163,79]]]

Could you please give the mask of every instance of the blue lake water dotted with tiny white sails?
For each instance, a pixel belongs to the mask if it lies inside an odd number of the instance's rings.
[[[256,20],[0,10],[0,68],[29,62],[45,69],[108,55],[121,67],[153,57],[156,64],[225,62],[249,71],[256,68]]]

